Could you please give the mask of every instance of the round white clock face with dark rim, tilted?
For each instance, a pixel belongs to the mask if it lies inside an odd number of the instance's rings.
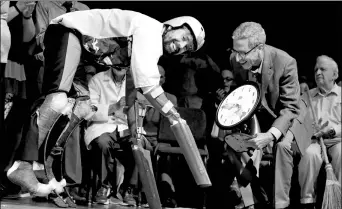
[[[252,84],[242,85],[220,103],[216,122],[221,128],[232,128],[247,119],[260,100],[259,89]]]

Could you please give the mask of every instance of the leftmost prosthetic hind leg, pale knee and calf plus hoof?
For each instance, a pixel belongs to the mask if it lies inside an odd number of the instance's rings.
[[[61,116],[61,111],[67,105],[65,93],[58,92],[49,94],[44,103],[34,113],[32,121],[38,126],[37,148],[44,142],[47,133],[53,124]],[[33,164],[28,161],[16,161],[7,172],[8,179],[18,186],[27,188],[35,196],[47,196],[57,184],[40,184],[34,175]]]

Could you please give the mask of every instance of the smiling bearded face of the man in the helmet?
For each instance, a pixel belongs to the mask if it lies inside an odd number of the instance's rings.
[[[164,51],[170,55],[182,54],[194,49],[193,37],[187,27],[172,29],[163,37]]]

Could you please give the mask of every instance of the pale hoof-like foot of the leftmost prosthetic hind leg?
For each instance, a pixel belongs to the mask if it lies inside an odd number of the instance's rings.
[[[28,189],[33,196],[45,197],[53,190],[51,185],[38,182],[29,162],[16,161],[8,170],[7,177],[12,183]]]

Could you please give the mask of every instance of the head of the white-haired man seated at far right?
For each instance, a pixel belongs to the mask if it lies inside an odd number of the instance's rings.
[[[315,66],[315,81],[318,87],[329,88],[334,85],[337,73],[333,69],[333,64],[326,58],[317,60]]]

